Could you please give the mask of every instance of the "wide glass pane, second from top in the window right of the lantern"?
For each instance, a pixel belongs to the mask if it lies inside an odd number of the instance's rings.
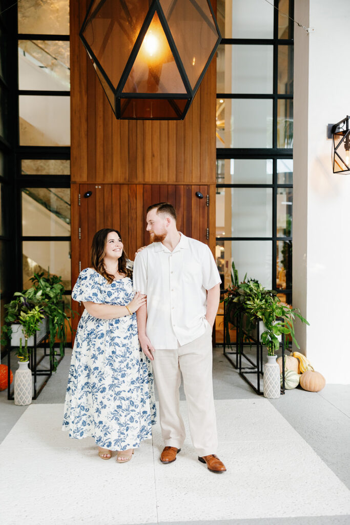
[[[221,45],[217,54],[218,93],[272,93],[273,47]]]

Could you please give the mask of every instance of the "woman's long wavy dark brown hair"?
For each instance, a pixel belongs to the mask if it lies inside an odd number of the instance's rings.
[[[111,228],[103,228],[96,232],[96,234],[93,236],[91,244],[91,267],[94,270],[98,271],[99,274],[102,275],[105,279],[107,279],[107,281],[110,284],[114,281],[114,276],[107,273],[103,264],[103,258],[105,256],[107,236],[111,232],[115,232],[119,235],[120,239],[122,239],[122,236],[120,235],[118,230]],[[132,277],[131,270],[129,270],[129,268],[126,268],[127,261],[128,257],[126,256],[125,251],[123,250],[122,255],[118,259],[118,271],[120,274],[125,275],[125,277]]]

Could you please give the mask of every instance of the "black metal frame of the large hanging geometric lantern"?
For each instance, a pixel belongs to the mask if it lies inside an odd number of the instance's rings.
[[[99,4],[94,9],[94,13],[96,13],[98,11],[98,9],[105,3],[105,1],[106,0],[101,0],[99,2]],[[121,78],[119,80],[118,86],[114,87],[112,85],[112,82],[109,79],[107,73],[102,68],[100,61],[97,59],[96,55],[93,53],[93,51],[91,49],[91,46],[88,44],[86,38],[83,35],[84,30],[86,29],[86,27],[87,27],[87,25],[89,23],[89,20],[91,18],[91,16],[90,16],[91,15],[91,9],[92,9],[93,4],[95,3],[95,0],[92,0],[92,2],[90,3],[90,6],[88,8],[88,12],[86,14],[86,17],[84,18],[84,22],[83,22],[82,27],[80,29],[79,36],[80,36],[80,39],[81,39],[84,47],[87,50],[87,53],[88,53],[88,55],[89,55],[93,65],[94,65],[94,67],[97,67],[99,69],[99,71],[101,72],[101,75],[103,76],[103,79],[105,80],[105,82],[107,82],[108,87],[111,89],[111,91],[113,93],[115,109],[113,108],[111,102],[110,101],[109,102],[110,102],[111,108],[112,108],[112,110],[113,110],[113,112],[115,114],[115,117],[117,119],[125,119],[125,120],[183,120],[185,118],[186,113],[187,113],[190,105],[192,104],[193,99],[194,99],[194,97],[196,95],[196,92],[197,92],[197,90],[199,88],[200,82],[203,80],[203,77],[204,77],[204,75],[205,75],[205,73],[206,73],[206,71],[207,71],[207,69],[209,67],[209,64],[210,64],[211,60],[213,59],[213,57],[214,57],[214,55],[216,53],[216,50],[217,50],[217,48],[218,48],[218,46],[220,44],[220,41],[221,41],[220,30],[219,30],[219,27],[217,25],[216,18],[215,18],[215,15],[214,15],[214,11],[213,11],[213,7],[211,6],[210,1],[207,0],[208,7],[210,9],[210,13],[213,16],[213,20],[209,20],[206,17],[206,15],[203,13],[203,10],[200,8],[200,6],[196,2],[196,0],[188,0],[188,2],[192,3],[194,5],[194,7],[198,11],[201,12],[201,14],[204,16],[204,18],[207,19],[207,22],[211,26],[213,26],[213,22],[214,22],[216,31],[218,33],[218,39],[216,41],[216,44],[214,45],[213,50],[211,51],[211,53],[209,55],[209,58],[208,58],[205,66],[204,66],[204,69],[201,72],[201,74],[200,74],[200,76],[199,76],[199,78],[198,78],[194,88],[192,88],[191,85],[190,85],[190,82],[189,82],[189,79],[188,79],[185,67],[183,65],[183,62],[182,62],[182,60],[181,60],[181,58],[179,56],[178,50],[176,48],[175,41],[174,41],[173,35],[171,33],[171,30],[169,29],[169,26],[168,26],[166,17],[164,15],[164,12],[163,12],[160,0],[152,0],[152,2],[150,4],[149,11],[148,11],[148,13],[147,13],[147,15],[145,17],[145,20],[144,20],[144,22],[142,24],[140,33],[139,33],[139,35],[136,38],[135,44],[133,46],[133,49],[132,49],[132,51],[130,53],[128,61],[126,62],[125,68],[124,68],[124,70],[122,72],[122,75],[121,75]],[[127,10],[127,12],[125,13],[126,16],[130,17],[130,13],[129,13],[128,8],[125,5],[125,3],[121,2],[121,4],[122,4],[122,8],[124,10],[125,9]],[[130,75],[130,72],[131,72],[131,69],[133,67],[133,64],[134,64],[134,61],[136,59],[136,56],[139,53],[139,50],[140,50],[140,47],[142,45],[143,39],[144,39],[144,37],[146,35],[147,29],[149,28],[155,13],[157,13],[157,15],[158,15],[158,17],[160,19],[162,28],[164,30],[164,33],[166,35],[166,38],[167,38],[167,41],[168,41],[168,44],[169,44],[169,47],[170,47],[170,49],[171,49],[171,51],[173,53],[177,69],[178,69],[179,74],[181,75],[182,81],[184,83],[184,86],[185,86],[185,89],[186,89],[186,93],[154,93],[154,92],[152,92],[152,93],[137,93],[137,92],[128,93],[128,92],[123,92],[123,87],[125,85],[125,82],[126,82],[126,80],[128,79],[128,77]],[[102,85],[102,83],[101,83],[101,85]],[[103,87],[103,85],[102,85],[102,87]],[[123,108],[121,107],[121,99],[126,99],[123,102],[124,103],[124,107]],[[142,118],[140,118],[140,117],[130,117],[130,116],[123,117],[122,116],[122,109],[125,110],[125,106],[130,104],[131,99],[167,100],[167,101],[169,101],[169,103],[173,107],[173,109],[174,109],[174,111],[176,113],[176,117],[155,117],[155,118],[153,118],[153,117],[142,117]],[[181,111],[176,106],[176,104],[173,103],[174,99],[187,100],[186,106],[183,109],[183,111]],[[108,98],[108,100],[109,100],[109,98]]]

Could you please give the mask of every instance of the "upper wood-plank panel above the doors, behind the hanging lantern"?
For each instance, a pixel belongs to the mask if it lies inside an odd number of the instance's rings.
[[[72,183],[215,184],[215,60],[184,121],[117,121],[78,37],[89,3],[70,2]]]

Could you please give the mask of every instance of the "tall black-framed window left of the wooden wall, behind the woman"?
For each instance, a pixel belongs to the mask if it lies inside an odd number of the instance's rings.
[[[70,300],[69,0],[18,3],[19,288],[62,277]]]

